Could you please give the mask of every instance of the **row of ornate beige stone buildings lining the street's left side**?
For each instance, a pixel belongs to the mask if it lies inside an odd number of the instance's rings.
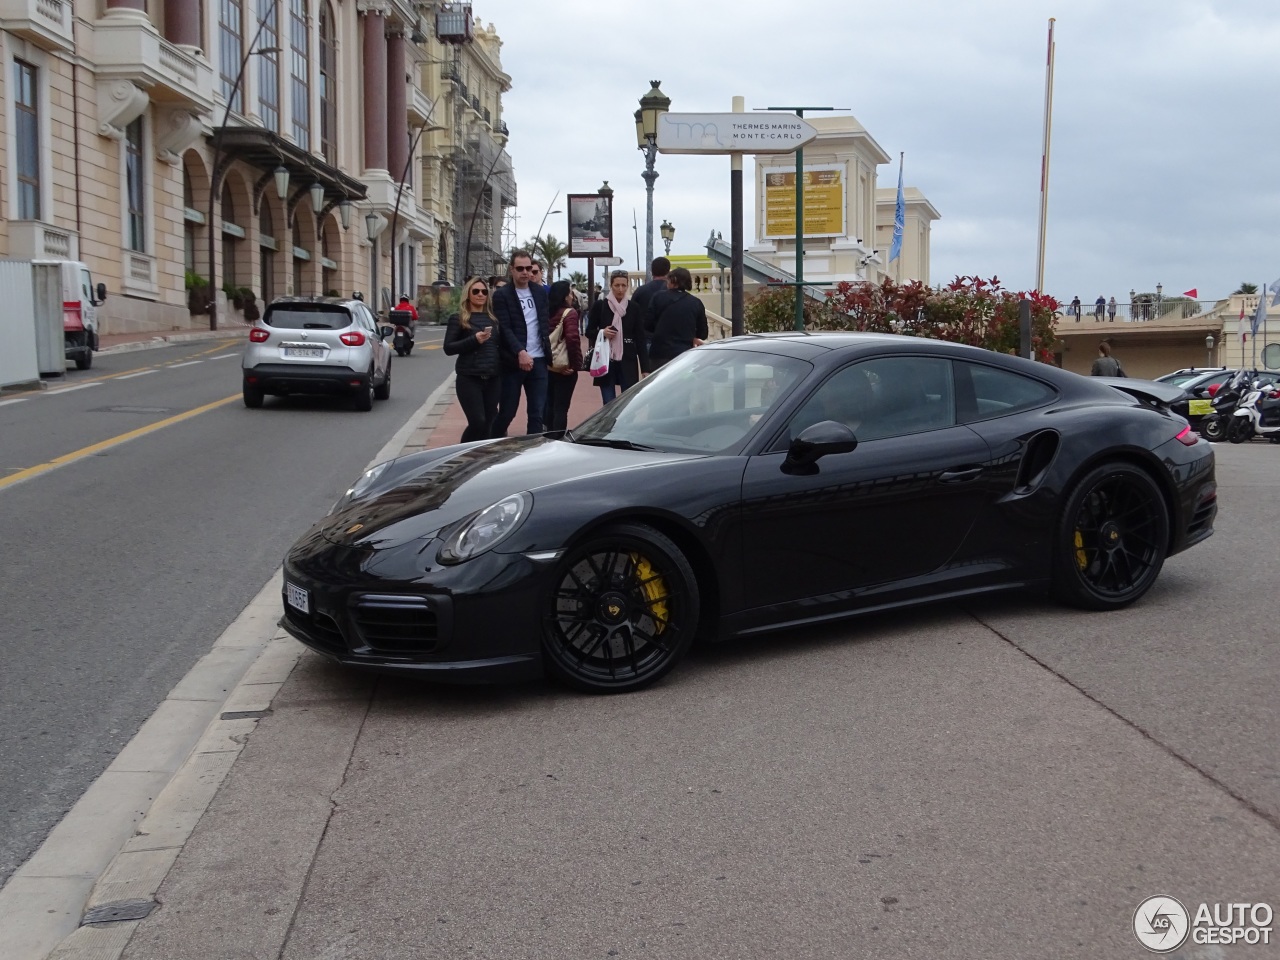
[[[86,261],[106,333],[490,271],[500,46],[439,0],[0,0],[0,257]]]

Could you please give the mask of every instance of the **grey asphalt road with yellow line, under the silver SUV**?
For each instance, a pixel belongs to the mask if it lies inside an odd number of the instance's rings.
[[[0,397],[0,883],[448,375],[440,334],[370,413],[246,410],[238,339]]]

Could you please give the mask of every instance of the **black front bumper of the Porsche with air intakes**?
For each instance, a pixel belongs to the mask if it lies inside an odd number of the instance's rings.
[[[310,534],[284,562],[280,626],[349,667],[456,684],[541,676],[547,571],[500,553],[440,566],[438,547],[372,550]],[[306,591],[308,612],[289,604],[289,584]]]

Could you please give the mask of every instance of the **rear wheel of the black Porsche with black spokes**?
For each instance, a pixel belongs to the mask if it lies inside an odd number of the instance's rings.
[[[1151,589],[1169,549],[1169,508],[1132,463],[1106,463],[1071,492],[1059,529],[1055,593],[1085,609],[1125,607]]]

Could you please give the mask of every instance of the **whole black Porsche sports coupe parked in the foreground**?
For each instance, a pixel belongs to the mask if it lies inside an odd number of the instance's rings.
[[[721,640],[1011,588],[1140,598],[1212,534],[1176,388],[877,334],[689,351],[562,438],[381,463],[289,550],[340,663],[634,690]]]

